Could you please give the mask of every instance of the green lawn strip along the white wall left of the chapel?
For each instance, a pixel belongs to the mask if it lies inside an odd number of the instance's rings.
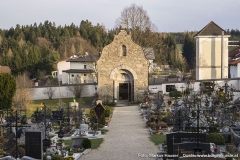
[[[83,98],[85,104],[81,106],[82,108],[85,108],[86,104],[89,104],[92,100],[92,97],[84,97]],[[62,98],[61,101],[64,103],[63,108],[67,108],[69,102],[73,102],[73,98]],[[41,103],[45,103],[47,108],[50,108],[51,110],[57,110],[59,108],[58,106],[59,99],[44,99],[44,100],[34,100],[32,101],[32,104],[29,106],[28,111],[27,111],[27,117],[30,118],[33,112],[38,108],[40,109]],[[76,99],[76,102],[78,100]]]

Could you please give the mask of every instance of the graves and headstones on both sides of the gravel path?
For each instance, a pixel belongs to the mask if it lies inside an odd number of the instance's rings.
[[[236,157],[240,148],[240,101],[238,90],[228,83],[186,81],[178,88],[168,84],[163,86],[164,92],[142,94],[139,111],[150,139],[155,137],[151,141],[159,146],[157,155],[174,160],[187,155]],[[108,131],[111,110],[98,97],[87,113],[81,101],[68,105],[59,101],[55,110],[42,103],[31,119],[21,111],[4,110],[1,157],[79,159]]]

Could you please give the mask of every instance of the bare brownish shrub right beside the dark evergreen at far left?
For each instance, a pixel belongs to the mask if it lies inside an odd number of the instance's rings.
[[[27,73],[16,77],[16,86],[17,90],[13,98],[13,104],[18,110],[27,111],[34,92],[32,81],[27,76]]]

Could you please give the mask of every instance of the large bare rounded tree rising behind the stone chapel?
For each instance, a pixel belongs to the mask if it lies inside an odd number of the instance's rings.
[[[152,46],[152,31],[156,26],[151,22],[147,11],[142,6],[132,4],[121,12],[121,17],[116,20],[116,27],[124,23],[125,28],[131,32],[135,43],[143,48]]]

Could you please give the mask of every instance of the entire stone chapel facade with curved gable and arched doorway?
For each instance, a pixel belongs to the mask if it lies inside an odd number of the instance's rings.
[[[100,99],[136,101],[148,90],[149,61],[125,30],[114,36],[97,61]]]

